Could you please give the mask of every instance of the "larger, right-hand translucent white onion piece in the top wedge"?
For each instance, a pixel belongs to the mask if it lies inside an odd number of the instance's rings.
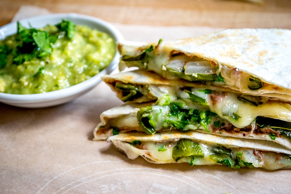
[[[214,74],[216,73],[216,66],[211,65],[209,61],[194,61],[187,62],[185,66],[185,74]]]

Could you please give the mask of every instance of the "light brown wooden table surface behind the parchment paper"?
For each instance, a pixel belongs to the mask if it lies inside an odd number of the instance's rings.
[[[22,5],[123,24],[291,29],[290,0],[264,0],[263,5],[232,0],[1,0],[0,26]]]

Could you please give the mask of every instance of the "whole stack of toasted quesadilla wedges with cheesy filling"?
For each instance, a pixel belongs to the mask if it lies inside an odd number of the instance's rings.
[[[134,159],[291,166],[291,32],[230,29],[197,38],[119,43],[120,68],[103,76],[125,102],[102,113],[94,140]]]

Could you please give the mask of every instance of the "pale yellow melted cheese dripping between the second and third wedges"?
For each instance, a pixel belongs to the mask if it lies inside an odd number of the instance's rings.
[[[159,106],[165,104],[165,95],[169,95],[171,102],[183,102],[183,108],[185,109],[205,109],[205,107],[201,108],[195,105],[195,103],[193,103],[192,101],[190,101],[189,95],[186,92],[182,91],[180,87],[162,86],[160,88],[159,86],[155,86],[155,88],[155,92],[152,92],[151,86],[149,87],[149,90],[158,97],[157,103]],[[210,94],[199,92],[196,89],[192,89],[192,92],[193,94],[203,99],[206,99],[209,104],[207,109],[215,112],[219,115],[220,118],[226,119],[237,128],[243,128],[250,125],[257,116],[265,116],[274,119],[291,121],[291,106],[288,104],[273,101],[255,106],[238,100],[238,95],[231,92],[224,93],[225,97],[221,98],[221,100],[213,101],[210,97]],[[166,112],[163,111],[163,113],[163,116],[166,117]],[[233,113],[239,115],[239,117],[241,118],[232,119],[230,115],[232,115]],[[155,117],[155,115],[153,115],[153,117]],[[161,121],[161,118],[157,120]]]

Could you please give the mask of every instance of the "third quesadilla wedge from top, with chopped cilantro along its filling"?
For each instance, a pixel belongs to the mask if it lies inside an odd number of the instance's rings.
[[[291,150],[291,126],[289,122],[278,122],[277,119],[264,117],[258,117],[256,122],[253,123],[254,127],[250,125],[244,128],[236,128],[230,122],[219,118],[217,115],[207,114],[206,118],[203,119],[201,117],[205,114],[194,115],[193,112],[189,114],[189,110],[178,108],[178,110],[176,110],[179,111],[176,115],[177,117],[172,117],[173,115],[166,115],[165,118],[159,120],[159,123],[163,123],[163,127],[154,133],[149,133],[150,129],[154,130],[157,128],[150,128],[153,123],[149,121],[149,119],[141,119],[137,117],[138,112],[143,107],[149,107],[149,105],[151,105],[151,103],[125,103],[121,106],[104,111],[100,116],[101,123],[99,123],[93,131],[93,140],[105,140],[112,135],[131,132],[139,132],[144,135],[159,135],[161,133],[170,133],[172,131],[176,133],[180,132],[181,134],[195,131],[225,136],[226,138],[233,137],[240,139],[252,139],[250,141],[265,140],[270,146],[276,143],[284,146],[286,149]],[[182,111],[185,112],[182,113]],[[183,114],[184,119],[181,121],[179,118],[180,115]],[[149,115],[147,116],[150,117]],[[184,127],[179,128],[180,126]],[[209,132],[206,131],[206,129],[208,129]]]

